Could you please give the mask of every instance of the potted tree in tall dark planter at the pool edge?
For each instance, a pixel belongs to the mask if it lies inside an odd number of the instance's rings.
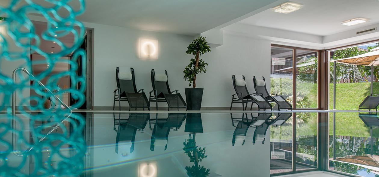
[[[186,88],[186,101],[188,110],[200,110],[201,101],[203,98],[202,88],[196,88],[196,76],[199,73],[205,73],[207,69],[205,66],[208,64],[200,59],[201,55],[204,55],[207,52],[210,52],[210,46],[208,45],[205,37],[198,37],[193,40],[187,47],[187,54],[193,54],[195,58],[192,58],[188,66],[184,69],[184,79],[189,82],[189,86],[192,88]]]

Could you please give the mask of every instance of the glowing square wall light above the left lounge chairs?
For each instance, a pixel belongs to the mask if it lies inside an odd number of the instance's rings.
[[[139,57],[158,59],[158,40],[139,39]]]

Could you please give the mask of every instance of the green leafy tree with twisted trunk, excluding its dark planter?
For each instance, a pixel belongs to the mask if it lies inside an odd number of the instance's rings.
[[[196,76],[199,73],[206,73],[207,69],[205,66],[208,64],[203,61],[203,59],[200,59],[201,55],[204,55],[207,52],[210,52],[210,46],[208,45],[208,42],[205,40],[205,37],[198,37],[197,39],[193,40],[187,47],[187,54],[192,54],[195,56],[195,58],[192,58],[187,67],[184,69],[184,79],[189,82],[189,86],[193,88],[196,88]]]

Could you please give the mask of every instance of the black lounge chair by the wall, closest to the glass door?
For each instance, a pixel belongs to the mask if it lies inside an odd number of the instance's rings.
[[[269,102],[275,102],[278,106],[278,110],[280,109],[290,109],[292,110],[292,105],[285,99],[283,96],[280,96],[278,94],[270,95],[266,88],[266,81],[265,77],[262,77],[261,79],[253,77],[254,81],[254,89],[255,92],[258,94],[262,94],[263,97],[265,97]]]

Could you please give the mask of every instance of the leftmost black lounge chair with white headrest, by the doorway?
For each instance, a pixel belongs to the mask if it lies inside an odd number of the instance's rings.
[[[134,69],[123,68],[123,71],[119,70],[119,67],[116,68],[116,81],[117,89],[113,91],[113,110],[114,103],[119,102],[119,110],[121,110],[121,101],[127,101],[130,108],[145,108],[150,110],[150,102],[146,97],[144,89],[138,90],[136,88],[136,82],[134,77]],[[116,92],[118,91],[118,95]]]

